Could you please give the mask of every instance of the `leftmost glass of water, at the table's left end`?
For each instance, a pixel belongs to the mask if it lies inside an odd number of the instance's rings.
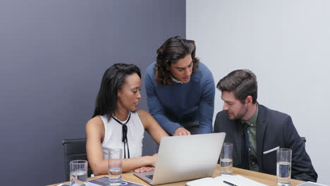
[[[70,161],[70,185],[81,186],[87,182],[87,166],[85,160]]]

